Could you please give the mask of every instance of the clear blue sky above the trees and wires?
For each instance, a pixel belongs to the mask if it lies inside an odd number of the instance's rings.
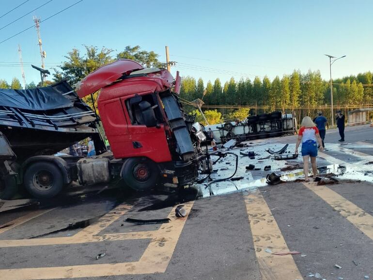
[[[0,16],[23,1],[2,1]],[[77,1],[53,0],[0,30],[0,41],[32,26],[32,16],[43,20]],[[1,17],[0,28],[45,2],[29,0]],[[293,69],[320,69],[328,79],[325,53],[347,56],[333,64],[334,78],[373,70],[372,10],[373,1],[368,0],[83,0],[41,23],[40,32],[49,69],[48,63],[63,62],[69,50],[82,49],[83,44],[118,52],[140,45],[160,54],[161,61],[168,45],[171,61],[179,62],[172,74],[179,70],[205,83],[232,76],[272,79]],[[26,82],[38,82],[38,73],[27,63],[41,63],[34,28],[0,44],[0,79],[21,80],[19,66],[3,66],[19,62],[18,44]]]

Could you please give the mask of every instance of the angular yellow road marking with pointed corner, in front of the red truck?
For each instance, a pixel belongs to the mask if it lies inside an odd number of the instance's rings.
[[[190,212],[194,202],[184,203],[184,208],[187,213]],[[58,267],[36,267],[36,268],[18,268],[18,269],[2,269],[0,275],[7,280],[36,280],[36,279],[59,279],[59,278],[78,278],[78,277],[104,277],[111,275],[126,275],[126,274],[150,274],[150,273],[164,273],[171,260],[173,251],[179,240],[180,234],[184,228],[187,217],[175,218],[175,207],[172,208],[168,218],[171,219],[170,223],[165,223],[160,229],[151,232],[139,232],[139,233],[114,233],[105,234],[103,236],[109,236],[109,240],[124,240],[124,239],[140,239],[140,238],[152,238],[149,246],[145,249],[140,260],[138,262],[119,263],[119,264],[88,264],[88,265],[70,265],[70,266],[58,266]],[[125,211],[124,209],[122,211]],[[109,214],[111,212],[111,214]],[[107,215],[114,216],[115,214],[110,211]],[[123,213],[123,212],[122,212]],[[119,214],[119,213],[118,213]],[[106,216],[106,215],[105,215]],[[104,218],[103,216],[102,218]],[[108,217],[106,217],[108,218]],[[110,218],[110,217],[109,217]],[[113,218],[114,219],[114,218]],[[103,219],[104,221],[104,219]],[[109,221],[107,221],[109,223]],[[111,221],[113,222],[113,221]],[[101,224],[103,225],[103,224]],[[78,235],[79,243],[86,242],[82,239],[83,236],[89,237],[89,234],[97,233],[104,228],[93,225],[92,228],[86,231],[84,234]],[[74,236],[76,236],[75,234]],[[69,237],[70,240],[74,240],[74,236]],[[91,236],[93,237],[93,236]],[[65,237],[63,237],[66,239]],[[119,239],[118,239],[119,238]],[[34,239],[28,241],[42,240]],[[57,239],[61,241],[61,238],[48,238]],[[105,239],[106,240],[106,239]],[[18,241],[18,240],[8,240]],[[20,240],[19,240],[20,241]],[[103,240],[99,240],[103,241]],[[61,244],[61,243],[55,243]],[[2,246],[2,244],[0,245]],[[21,245],[29,246],[29,245]]]

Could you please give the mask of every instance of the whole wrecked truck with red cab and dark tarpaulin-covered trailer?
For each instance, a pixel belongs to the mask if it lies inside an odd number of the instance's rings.
[[[33,197],[56,196],[80,185],[123,179],[126,186],[182,187],[193,183],[205,140],[178,101],[180,77],[121,59],[82,79],[31,90],[0,90],[0,196],[20,188]],[[81,98],[100,91],[100,116]],[[93,103],[94,107],[94,103]],[[99,133],[101,120],[111,152]],[[92,136],[97,156],[55,156]]]

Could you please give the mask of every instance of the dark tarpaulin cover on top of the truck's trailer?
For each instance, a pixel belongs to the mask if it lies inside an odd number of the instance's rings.
[[[0,89],[0,106],[27,110],[49,110],[73,107],[74,104],[52,87],[30,90]]]

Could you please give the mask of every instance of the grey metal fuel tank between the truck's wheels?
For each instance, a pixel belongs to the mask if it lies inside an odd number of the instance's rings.
[[[78,160],[77,167],[81,185],[108,183],[110,181],[108,158],[82,158]]]

